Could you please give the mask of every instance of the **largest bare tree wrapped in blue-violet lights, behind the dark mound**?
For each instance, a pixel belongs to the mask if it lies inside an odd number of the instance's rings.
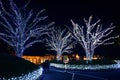
[[[30,2],[18,8],[13,0],[9,0],[9,9],[5,9],[0,0],[0,39],[13,47],[18,57],[23,56],[26,48],[41,42],[39,38],[46,33],[48,25],[41,24],[47,16],[40,17],[44,9],[34,14],[33,9],[27,10]]]

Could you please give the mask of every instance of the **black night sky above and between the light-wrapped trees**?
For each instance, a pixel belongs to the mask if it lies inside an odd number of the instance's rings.
[[[4,0],[2,0],[4,1]],[[15,0],[18,5],[24,4],[27,0]],[[70,19],[78,24],[83,22],[83,18],[93,16],[94,20],[101,19],[101,23],[108,26],[113,23],[116,26],[115,35],[120,34],[120,4],[116,0],[31,0],[28,8],[33,8],[34,12],[46,9],[45,15],[48,15],[48,21],[54,21],[55,26],[65,27],[71,26]],[[2,52],[6,51],[7,44],[1,41]],[[120,46],[117,44],[100,46],[95,50],[95,54],[100,55],[119,55]],[[55,53],[46,51],[44,44],[35,44],[25,51],[25,55],[41,55],[43,53]],[[77,45],[73,53],[84,55],[84,51],[80,45]]]

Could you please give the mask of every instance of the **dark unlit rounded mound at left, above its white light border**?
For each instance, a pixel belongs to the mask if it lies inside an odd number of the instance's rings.
[[[22,58],[0,53],[0,77],[19,77],[38,68],[39,66]]]

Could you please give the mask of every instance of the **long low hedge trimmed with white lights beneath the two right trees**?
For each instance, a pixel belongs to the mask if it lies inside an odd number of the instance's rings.
[[[93,61],[94,62],[94,61]],[[120,60],[101,60],[95,61],[94,63],[86,64],[86,61],[72,61],[69,62],[66,66],[67,69],[71,70],[107,70],[107,69],[120,69]],[[98,63],[101,62],[101,63]],[[51,66],[56,68],[65,69],[65,64],[63,62],[52,61]]]

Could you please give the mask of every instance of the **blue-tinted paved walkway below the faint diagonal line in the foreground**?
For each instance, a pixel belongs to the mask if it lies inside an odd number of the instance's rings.
[[[99,79],[91,76],[78,75],[78,74],[72,74],[70,72],[52,70],[46,74],[43,74],[43,79],[41,80],[107,80],[107,79]]]

